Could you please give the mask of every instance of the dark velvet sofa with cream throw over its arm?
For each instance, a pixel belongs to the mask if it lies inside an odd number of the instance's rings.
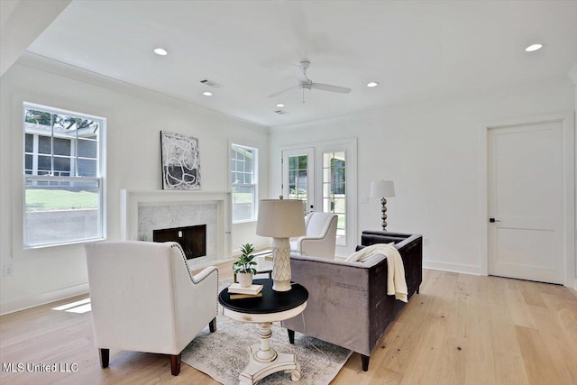
[[[423,238],[418,234],[362,232],[361,246],[395,243],[405,266],[408,298],[422,281]],[[282,322],[294,344],[295,331],[351,349],[362,356],[362,370],[380,338],[405,306],[387,295],[387,259],[375,256],[365,262],[344,262],[291,256],[292,280],[308,289],[302,316]]]

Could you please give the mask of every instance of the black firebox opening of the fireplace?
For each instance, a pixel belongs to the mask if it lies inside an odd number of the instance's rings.
[[[152,241],[179,243],[188,260],[204,257],[206,255],[206,225],[152,230]]]

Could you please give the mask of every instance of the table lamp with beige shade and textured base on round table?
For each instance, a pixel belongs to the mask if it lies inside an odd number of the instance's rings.
[[[307,233],[303,202],[293,199],[262,199],[256,234],[272,237],[272,289],[290,290],[289,237]]]

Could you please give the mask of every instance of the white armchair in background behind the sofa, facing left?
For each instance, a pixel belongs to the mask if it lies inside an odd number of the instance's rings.
[[[310,213],[305,216],[307,234],[290,239],[290,250],[306,255],[334,259],[336,246],[336,223],[338,215],[330,213]]]

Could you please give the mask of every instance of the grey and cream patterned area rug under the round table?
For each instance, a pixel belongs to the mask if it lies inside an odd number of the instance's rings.
[[[231,283],[232,280],[222,280],[219,287],[226,288]],[[218,313],[216,332],[210,333],[206,326],[182,352],[182,361],[223,384],[238,384],[238,375],[249,361],[247,346],[259,342],[259,327],[227,318],[220,308]],[[301,370],[300,381],[296,383],[300,384],[328,384],[352,354],[340,346],[300,333],[295,334],[295,344],[289,344],[287,329],[279,323],[272,325],[270,345],[278,352],[296,354]],[[259,384],[290,382],[290,374],[279,371],[260,380]]]

